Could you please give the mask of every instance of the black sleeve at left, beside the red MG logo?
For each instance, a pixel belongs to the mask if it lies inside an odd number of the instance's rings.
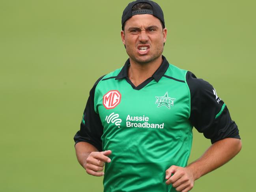
[[[103,134],[103,126],[101,124],[99,114],[97,114],[94,110],[94,95],[95,88],[103,77],[104,76],[95,82],[90,91],[90,95],[84,109],[82,121],[80,123],[80,130],[78,130],[74,136],[75,145],[78,142],[88,142],[95,146],[99,151],[102,151],[101,136]]]

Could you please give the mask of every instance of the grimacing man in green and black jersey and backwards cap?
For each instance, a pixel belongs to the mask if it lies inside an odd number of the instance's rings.
[[[166,35],[158,4],[128,4],[121,39],[129,59],[90,91],[75,149],[88,174],[104,175],[105,192],[188,192],[241,149],[215,89],[162,56]],[[192,127],[212,145],[187,165]]]

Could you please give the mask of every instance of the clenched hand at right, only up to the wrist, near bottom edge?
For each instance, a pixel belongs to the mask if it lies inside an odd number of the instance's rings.
[[[167,179],[165,183],[172,184],[176,191],[188,192],[194,186],[194,175],[189,168],[172,165],[165,173]]]

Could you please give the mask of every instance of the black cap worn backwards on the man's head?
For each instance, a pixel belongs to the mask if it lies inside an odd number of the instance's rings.
[[[132,11],[133,6],[137,3],[148,3],[152,6],[153,10],[138,9],[138,10]],[[164,26],[164,13],[163,13],[161,7],[157,3],[153,2],[153,1],[150,1],[150,0],[136,0],[136,1],[133,1],[133,2],[129,3],[127,5],[127,7],[125,7],[125,9],[123,10],[122,28],[123,28],[123,24],[125,23],[125,21],[127,21],[127,19],[129,19],[133,15],[138,15],[138,14],[154,15],[155,17],[160,19],[160,21],[163,23],[163,26]]]

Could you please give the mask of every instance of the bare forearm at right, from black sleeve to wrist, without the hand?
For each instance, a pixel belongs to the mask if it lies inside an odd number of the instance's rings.
[[[220,140],[212,144],[202,157],[189,164],[187,168],[191,170],[196,180],[235,157],[241,150],[241,147],[240,139],[226,138]]]

